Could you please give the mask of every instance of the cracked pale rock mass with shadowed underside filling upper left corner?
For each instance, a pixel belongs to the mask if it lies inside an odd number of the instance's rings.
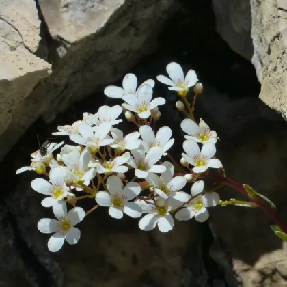
[[[39,11],[32,0],[0,1],[0,160],[41,115],[53,120],[153,51],[176,12],[174,0],[38,2]]]

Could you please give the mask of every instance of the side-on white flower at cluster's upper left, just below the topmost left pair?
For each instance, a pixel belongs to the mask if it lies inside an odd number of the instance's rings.
[[[102,106],[100,109],[98,109],[98,113],[95,113],[94,115],[92,115],[92,113],[83,113],[83,116],[85,119],[96,126],[99,126],[103,122],[109,122],[113,126],[122,122],[122,120],[117,120],[121,113],[121,106]]]

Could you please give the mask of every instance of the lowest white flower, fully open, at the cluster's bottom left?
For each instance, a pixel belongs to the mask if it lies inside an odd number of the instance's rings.
[[[85,217],[85,211],[81,207],[74,207],[67,213],[66,202],[59,202],[53,206],[53,213],[58,220],[42,218],[38,222],[38,230],[43,233],[53,233],[48,241],[48,249],[57,252],[66,241],[75,244],[79,241],[81,231],[74,228]]]

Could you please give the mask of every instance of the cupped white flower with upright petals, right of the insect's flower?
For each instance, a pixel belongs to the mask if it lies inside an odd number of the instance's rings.
[[[92,160],[92,154],[88,148],[80,152],[77,146],[65,145],[61,148],[60,154],[61,161],[66,165],[66,184],[77,183],[80,180],[84,184],[89,185],[96,172],[88,167],[90,160]]]

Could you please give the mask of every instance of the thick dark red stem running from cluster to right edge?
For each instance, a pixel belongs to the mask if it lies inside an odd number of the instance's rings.
[[[271,219],[273,219],[276,225],[279,226],[279,228],[281,228],[281,230],[284,233],[287,233],[287,226],[279,219],[275,211],[269,208],[269,206],[265,202],[260,200],[260,197],[249,197],[247,191],[243,187],[243,184],[240,184],[230,178],[217,177],[217,179],[223,184],[233,187],[234,189],[239,191],[241,194],[243,194],[245,197],[248,197],[249,199],[251,199],[254,203],[258,205],[258,207],[260,207],[264,211],[264,213],[266,213],[269,217],[271,217]]]

